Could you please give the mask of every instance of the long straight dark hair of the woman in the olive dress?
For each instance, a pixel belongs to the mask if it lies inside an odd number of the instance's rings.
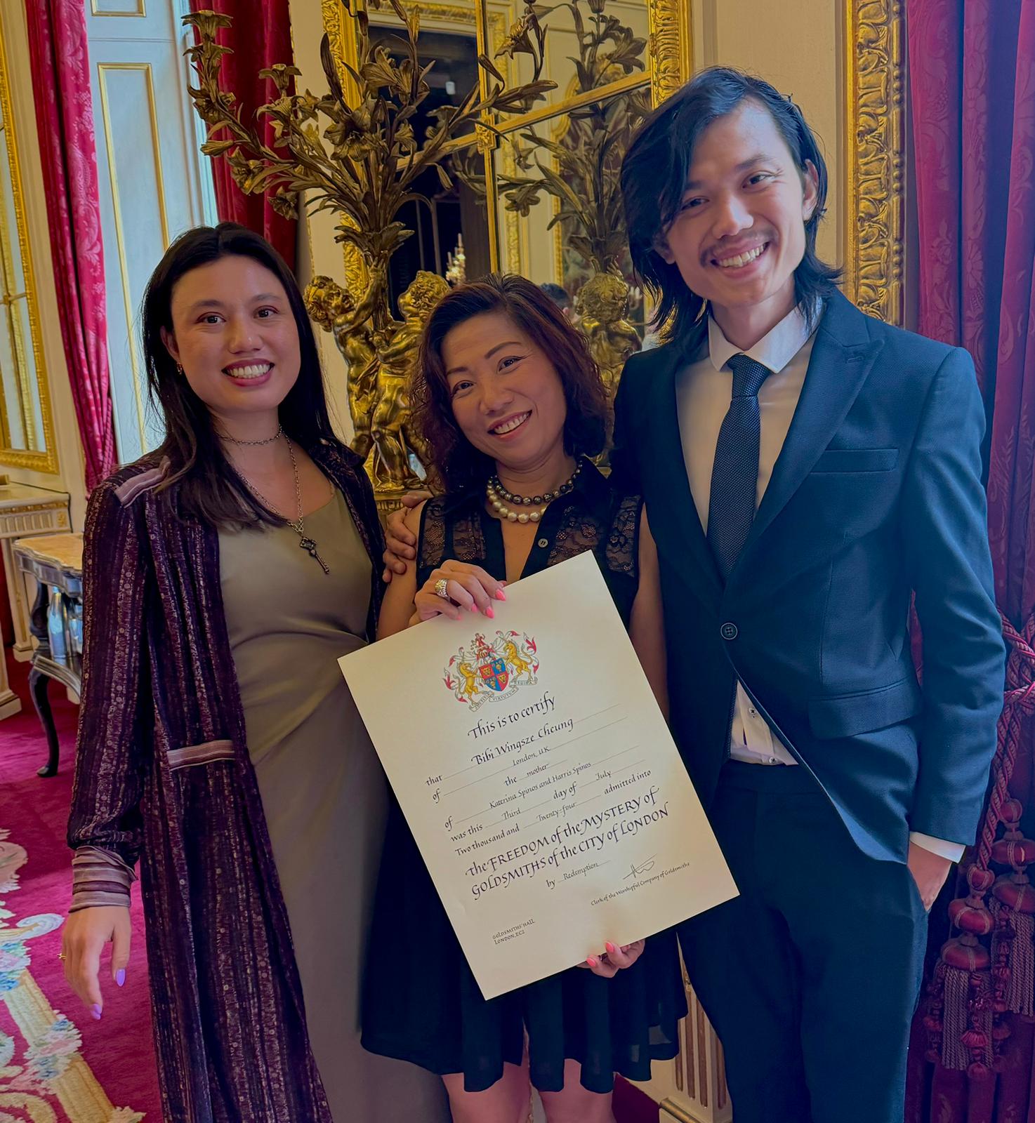
[[[165,440],[157,451],[169,458],[169,473],[161,486],[164,490],[176,484],[181,512],[209,526],[275,524],[283,520],[260,503],[230,467],[208,407],[178,372],[162,341],[162,329],[173,330],[172,292],[176,282],[191,270],[229,256],[251,257],[280,281],[298,326],[301,367],[280,404],[284,432],[306,449],[336,440],[312,326],[294,275],[270,243],[246,227],[236,222],[199,226],[181,234],[165,252],[147,282],[140,310],[147,390],[165,422]]]

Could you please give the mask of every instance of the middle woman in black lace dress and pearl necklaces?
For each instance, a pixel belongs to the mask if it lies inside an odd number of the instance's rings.
[[[412,401],[446,494],[407,515],[417,557],[379,636],[493,615],[505,585],[593,550],[662,707],[657,555],[643,502],[587,457],[607,400],[583,337],[536,285],[489,276],[448,293],[425,331]],[[614,1123],[614,1074],[645,1080],[678,1050],[674,932],[485,1002],[393,807],[374,907],[363,1044],[443,1076],[455,1123],[524,1123],[529,1080],[551,1123]],[[526,1048],[527,1039],[527,1048]]]

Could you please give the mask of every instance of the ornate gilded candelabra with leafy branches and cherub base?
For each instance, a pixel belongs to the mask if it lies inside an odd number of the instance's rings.
[[[437,109],[427,136],[418,138],[411,120],[430,93],[427,73],[434,65],[425,65],[418,57],[419,11],[416,6],[405,8],[401,0],[370,2],[375,9],[384,2],[401,25],[392,40],[394,54],[371,38],[365,9],[343,0],[356,26],[356,67],[345,65],[344,75],[339,73],[325,35],[320,61],[327,94],[292,92],[300,73],[294,66],[278,64],[263,70],[260,76],[271,80],[278,91],[278,97],[258,110],[260,117],[273,121],[270,145],[254,124],[242,120],[234,94],[220,85],[220,65],[228,48],[217,44],[216,37],[231,26],[230,17],[206,10],[184,17],[184,22],[197,31],[197,43],[188,55],[197,75],[190,94],[209,126],[202,152],[226,159],[240,190],[265,193],[278,213],[297,217],[300,200],[310,212],[334,211],[337,240],[354,247],[362,263],[357,270],[364,274],[362,300],[353,301],[334,282],[319,277],[309,286],[309,307],[317,322],[334,334],[348,363],[356,447],[370,454],[367,467],[383,508],[414,482],[405,450],[418,456],[419,450],[412,438],[407,442],[406,418],[396,418],[393,411],[406,408],[400,380],[405,368],[408,375],[407,364],[412,364],[415,325],[418,316],[426,316],[427,293],[433,289],[426,280],[412,293],[411,285],[400,298],[402,321],[391,316],[388,262],[412,234],[397,214],[407,202],[423,198],[415,183],[429,168],[435,168],[446,190],[452,186],[444,162],[450,141],[465,127],[476,125],[494,131],[496,115],[527,112],[555,83],[539,77],[543,31],[537,9],[528,4],[508,42],[512,53],[532,58],[532,80],[508,89],[491,60],[480,56],[479,66],[488,74],[485,92],[475,84],[455,106]],[[409,313],[402,307],[403,298],[412,307]],[[397,346],[399,332],[402,339]]]

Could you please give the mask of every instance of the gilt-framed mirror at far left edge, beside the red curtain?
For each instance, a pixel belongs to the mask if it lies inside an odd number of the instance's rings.
[[[57,471],[18,138],[0,25],[0,465]]]

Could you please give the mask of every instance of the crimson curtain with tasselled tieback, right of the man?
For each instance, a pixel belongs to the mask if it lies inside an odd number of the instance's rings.
[[[907,0],[906,12],[919,330],[974,357],[991,419],[989,536],[1010,649],[979,844],[948,914],[936,906],[932,916],[906,1121],[1035,1123],[1035,3]]]

